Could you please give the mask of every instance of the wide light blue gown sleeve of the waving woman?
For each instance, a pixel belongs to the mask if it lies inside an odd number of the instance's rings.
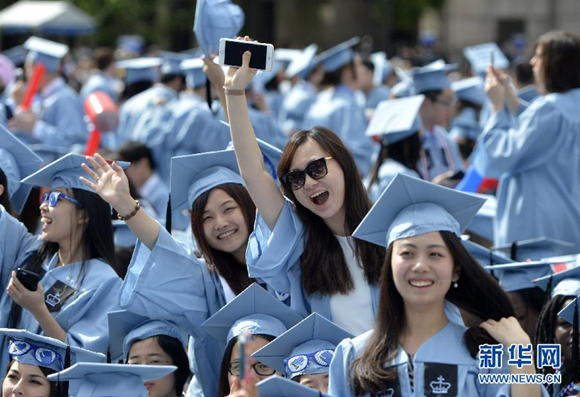
[[[119,306],[134,313],[172,320],[194,334],[208,318],[200,267],[193,255],[160,226],[152,251],[140,241],[121,287]]]

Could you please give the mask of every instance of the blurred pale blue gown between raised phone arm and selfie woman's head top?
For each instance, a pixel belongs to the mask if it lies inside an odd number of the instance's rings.
[[[280,106],[279,123],[285,133],[302,129],[304,118],[316,101],[317,93],[316,87],[305,80],[298,80],[290,89]]]

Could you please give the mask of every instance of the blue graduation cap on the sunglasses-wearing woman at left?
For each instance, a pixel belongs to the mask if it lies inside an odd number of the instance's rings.
[[[44,186],[51,189],[57,187],[81,189],[94,193],[93,189],[79,180],[81,176],[87,177],[86,171],[81,168],[81,164],[83,163],[86,163],[90,167],[85,156],[73,153],[67,154],[24,178],[22,183],[32,186]],[[129,166],[129,163],[125,161],[119,161],[117,164],[122,168]]]

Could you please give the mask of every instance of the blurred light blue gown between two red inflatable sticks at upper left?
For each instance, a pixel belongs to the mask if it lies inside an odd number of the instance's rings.
[[[79,98],[69,92],[69,88],[65,87],[45,100],[50,104],[45,105],[40,127],[34,131],[34,137],[41,143],[69,147],[86,142],[88,129],[83,109]]]

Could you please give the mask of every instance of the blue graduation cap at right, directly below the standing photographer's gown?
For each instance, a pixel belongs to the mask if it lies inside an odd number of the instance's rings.
[[[576,254],[578,252],[575,244],[550,237],[520,240],[510,245],[493,247],[493,249],[509,255],[513,260],[519,262],[528,259],[539,260],[553,256]]]

